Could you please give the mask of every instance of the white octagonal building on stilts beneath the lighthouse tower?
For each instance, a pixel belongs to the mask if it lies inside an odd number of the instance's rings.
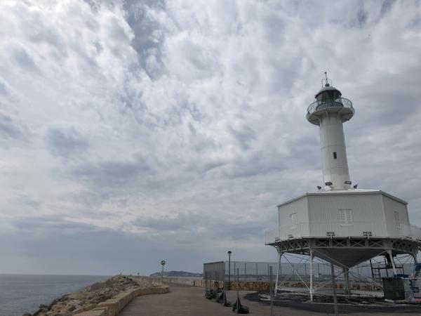
[[[382,254],[384,249],[396,248],[394,254],[416,254],[421,231],[410,225],[406,204],[381,190],[306,193],[278,205],[279,233],[275,238],[287,241],[285,251],[289,242],[307,240],[317,249],[316,256],[348,268]],[[399,247],[405,246],[403,251],[391,244],[390,238],[398,239]],[[323,246],[326,242],[330,244]]]

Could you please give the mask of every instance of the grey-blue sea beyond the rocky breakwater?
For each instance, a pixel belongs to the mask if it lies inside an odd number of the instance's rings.
[[[69,294],[89,284],[107,279],[106,275],[1,275],[0,315],[22,316],[33,313],[40,304]]]

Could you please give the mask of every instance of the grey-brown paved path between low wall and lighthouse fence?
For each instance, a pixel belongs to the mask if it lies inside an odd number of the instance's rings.
[[[248,301],[243,296],[253,293],[250,291],[241,291],[241,303],[247,305],[250,308],[249,315],[255,316],[269,316],[270,310],[269,305],[262,303]],[[236,292],[227,292],[227,298],[231,302],[235,302]],[[341,305],[340,305],[341,308]],[[319,315],[333,315],[332,305],[326,304],[326,312],[314,312],[308,310],[300,310],[296,308],[289,308],[285,306],[275,306],[275,316],[319,316]],[[421,306],[420,306],[421,310]],[[421,314],[421,313],[420,313]],[[406,314],[406,313],[388,313],[388,312],[351,312],[340,315],[352,315],[352,316],[373,316],[373,315],[420,315],[420,314]],[[234,316],[232,308],[224,307],[221,304],[215,303],[215,301],[209,301],[203,296],[203,289],[197,287],[178,287],[171,285],[170,292],[168,294],[155,294],[138,296],[124,308],[119,316]]]

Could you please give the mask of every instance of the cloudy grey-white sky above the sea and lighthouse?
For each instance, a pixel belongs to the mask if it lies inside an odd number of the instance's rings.
[[[0,273],[276,261],[325,71],[352,182],[421,225],[420,1],[0,1]]]

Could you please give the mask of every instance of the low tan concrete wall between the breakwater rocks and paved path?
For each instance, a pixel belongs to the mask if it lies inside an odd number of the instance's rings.
[[[168,285],[159,285],[157,287],[145,287],[140,289],[129,289],[123,291],[114,298],[110,298],[105,302],[98,303],[97,307],[92,310],[74,314],[75,316],[116,316],[126,307],[128,303],[136,296],[148,294],[165,294],[168,293]]]

